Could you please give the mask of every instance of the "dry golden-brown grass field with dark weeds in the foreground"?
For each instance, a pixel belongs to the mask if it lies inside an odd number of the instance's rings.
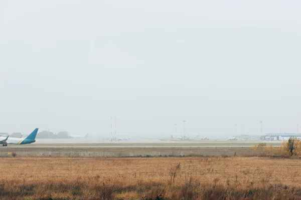
[[[301,199],[300,165],[269,157],[5,157],[0,198]]]

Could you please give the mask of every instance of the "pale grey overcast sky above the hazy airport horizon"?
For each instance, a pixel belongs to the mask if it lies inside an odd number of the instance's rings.
[[[260,134],[260,120],[264,133],[301,132],[299,10],[298,0],[2,0],[0,131],[110,137],[112,117],[122,136],[183,135],[183,120],[189,136],[231,136],[235,124]]]

